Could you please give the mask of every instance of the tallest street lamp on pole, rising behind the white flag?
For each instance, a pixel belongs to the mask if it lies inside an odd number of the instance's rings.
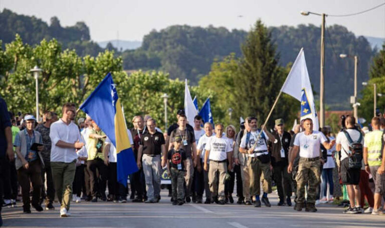
[[[324,94],[325,94],[325,79],[324,79],[324,68],[325,68],[325,17],[326,14],[317,14],[308,11],[301,11],[301,15],[308,16],[309,14],[314,14],[322,17],[321,23],[321,63],[320,63],[320,85],[319,85],[319,122],[320,127],[323,127],[325,124],[325,104],[324,104]]]

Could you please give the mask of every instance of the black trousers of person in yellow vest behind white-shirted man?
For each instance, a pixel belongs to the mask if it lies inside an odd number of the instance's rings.
[[[106,196],[107,166],[100,158],[87,161],[87,169],[90,174],[90,185],[92,197],[104,198]],[[99,173],[99,175],[98,175]]]

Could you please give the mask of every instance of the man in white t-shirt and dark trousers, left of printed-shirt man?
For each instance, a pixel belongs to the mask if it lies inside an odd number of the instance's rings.
[[[202,170],[203,162],[205,159],[205,147],[207,142],[210,140],[211,137],[214,137],[215,134],[213,134],[213,125],[210,122],[205,123],[204,126],[205,134],[202,135],[198,141],[197,146],[197,170],[198,175],[195,182],[196,192],[197,192],[197,202],[201,203],[203,198],[203,191],[206,192],[206,201],[205,204],[211,203],[211,192],[210,192],[210,186],[209,186],[209,172],[206,170]],[[207,164],[209,165],[209,164]]]

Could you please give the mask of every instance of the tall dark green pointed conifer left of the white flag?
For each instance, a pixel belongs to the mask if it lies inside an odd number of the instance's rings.
[[[238,74],[234,78],[236,99],[230,103],[234,107],[235,116],[256,116],[262,124],[288,72],[278,65],[279,54],[271,40],[271,33],[260,20],[249,32],[241,49],[243,58],[240,59]],[[293,99],[282,96],[270,117],[270,126],[277,118],[284,118],[286,121],[293,119],[290,116],[293,113],[291,104]]]

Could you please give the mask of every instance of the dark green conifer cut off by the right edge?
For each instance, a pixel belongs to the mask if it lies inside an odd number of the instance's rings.
[[[382,45],[382,50],[373,58],[369,76],[368,86],[361,91],[362,99],[358,101],[361,104],[358,107],[358,117],[365,118],[367,123],[370,123],[374,115],[373,84],[376,84],[377,93],[385,94],[385,44]],[[383,113],[385,108],[384,96],[377,96],[376,108],[379,108]]]

